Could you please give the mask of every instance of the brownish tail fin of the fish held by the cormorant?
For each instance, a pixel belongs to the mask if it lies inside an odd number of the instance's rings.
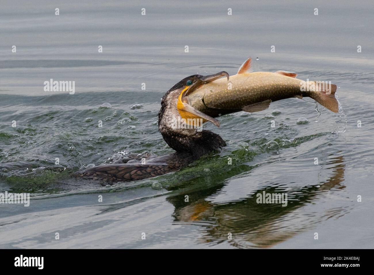
[[[336,85],[316,81],[315,91],[311,92],[309,96],[330,111],[337,113],[339,111],[339,106],[335,98],[335,92]]]

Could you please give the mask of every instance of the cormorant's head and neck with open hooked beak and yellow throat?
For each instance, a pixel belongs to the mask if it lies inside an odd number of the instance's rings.
[[[163,96],[158,114],[159,131],[171,148],[200,156],[226,146],[219,135],[202,130],[202,123],[211,121],[219,126],[218,120],[194,109],[185,99],[194,89],[221,77],[228,80],[229,74],[225,71],[208,76],[193,74],[175,84]]]

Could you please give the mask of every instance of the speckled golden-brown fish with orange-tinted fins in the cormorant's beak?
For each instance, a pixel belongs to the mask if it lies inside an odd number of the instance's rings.
[[[233,76],[223,71],[206,77],[206,81],[195,82],[180,96],[180,113],[185,111],[190,114],[187,118],[202,118],[203,122],[211,121],[219,126],[214,117],[238,111],[263,111],[274,101],[303,97],[338,112],[337,87],[331,82],[304,81],[290,71],[253,72],[251,63],[248,58]],[[186,118],[186,114],[182,117]]]

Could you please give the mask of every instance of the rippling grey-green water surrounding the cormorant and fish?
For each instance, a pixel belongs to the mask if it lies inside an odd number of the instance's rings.
[[[0,248],[373,248],[373,11],[372,1],[3,1],[0,192],[32,198],[0,204]],[[207,124],[227,147],[181,171],[112,186],[71,176],[173,152],[157,130],[163,94],[191,74],[235,74],[248,56],[255,71],[340,86],[339,113],[278,101]],[[74,80],[75,94],[45,92],[51,78]],[[258,204],[264,191],[288,205]]]

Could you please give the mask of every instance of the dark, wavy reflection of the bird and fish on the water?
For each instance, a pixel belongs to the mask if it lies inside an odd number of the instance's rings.
[[[333,166],[329,167],[329,164]],[[206,234],[199,242],[220,243],[227,241],[230,245],[244,248],[254,246],[268,248],[291,238],[307,227],[322,221],[323,215],[307,217],[304,223],[288,226],[290,219],[294,218],[293,212],[302,208],[305,204],[318,203],[319,197],[331,189],[341,190],[345,186],[340,183],[344,181],[344,158],[338,156],[326,164],[325,169],[329,172],[328,180],[321,182],[321,186],[304,186],[301,188],[290,188],[284,186],[270,185],[255,190],[245,199],[214,204],[207,198],[219,193],[223,184],[211,189],[188,192],[191,201],[186,205],[185,195],[169,196],[175,211],[174,222],[187,222],[197,226],[205,227]],[[287,193],[288,205],[282,204],[258,204],[257,193]],[[338,209],[329,213],[330,217],[341,216],[347,210]],[[321,220],[318,220],[321,219]],[[232,233],[232,239],[228,240],[228,234]]]

